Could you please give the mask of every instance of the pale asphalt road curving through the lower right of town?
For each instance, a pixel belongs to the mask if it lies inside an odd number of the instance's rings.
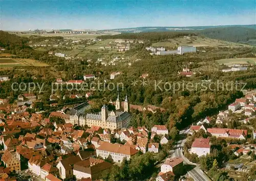
[[[183,134],[188,134],[190,131],[189,128],[187,128],[186,130],[180,131],[180,135]],[[187,158],[184,157],[183,155],[183,146],[186,142],[186,139],[182,139],[178,141],[178,144],[176,146],[176,149],[173,152],[172,157],[179,157],[182,158],[184,160],[184,165],[189,165],[191,166],[191,170],[189,170],[187,173],[190,177],[192,177],[195,181],[208,181],[211,180],[198,166],[197,164],[191,163],[189,162],[189,160],[187,160]],[[194,168],[193,168],[194,167]]]

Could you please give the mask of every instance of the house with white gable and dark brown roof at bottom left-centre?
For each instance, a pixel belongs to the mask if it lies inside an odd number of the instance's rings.
[[[74,165],[79,161],[81,161],[79,156],[72,156],[59,161],[56,167],[59,169],[60,178],[65,179],[71,177],[73,175]]]

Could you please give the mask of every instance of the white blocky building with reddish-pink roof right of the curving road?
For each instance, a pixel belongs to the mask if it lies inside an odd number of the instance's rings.
[[[196,153],[198,157],[210,154],[209,139],[197,138],[191,146],[191,152]]]

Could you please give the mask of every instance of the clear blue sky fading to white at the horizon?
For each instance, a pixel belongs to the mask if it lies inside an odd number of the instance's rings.
[[[255,0],[0,0],[2,30],[256,24]]]

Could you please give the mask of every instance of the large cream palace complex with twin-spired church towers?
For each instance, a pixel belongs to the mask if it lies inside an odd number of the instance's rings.
[[[87,114],[86,124],[89,127],[100,126],[102,128],[116,130],[129,126],[132,115],[129,113],[129,102],[127,95],[125,96],[124,102],[120,102],[119,94],[115,102],[110,102],[115,105],[116,111],[108,111],[108,107],[103,105],[101,108],[101,112],[96,114]]]

